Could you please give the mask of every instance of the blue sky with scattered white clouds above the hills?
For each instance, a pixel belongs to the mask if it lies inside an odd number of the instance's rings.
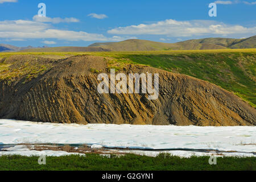
[[[217,5],[210,17],[209,3]],[[46,4],[39,17],[38,4]],[[182,40],[256,35],[254,1],[0,0],[0,43],[88,46],[94,42]]]

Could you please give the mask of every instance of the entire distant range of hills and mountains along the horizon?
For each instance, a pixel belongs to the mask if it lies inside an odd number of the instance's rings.
[[[15,47],[0,44],[0,52],[97,52],[97,51],[170,51],[200,49],[256,48],[256,36],[246,39],[205,38],[177,43],[130,39],[122,42],[94,43],[88,47]]]

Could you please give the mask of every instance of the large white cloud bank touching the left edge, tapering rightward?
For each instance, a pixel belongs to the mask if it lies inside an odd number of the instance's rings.
[[[68,41],[121,41],[130,37],[90,34],[84,31],[58,30],[50,24],[30,20],[0,21],[0,38],[5,39],[59,39]]]

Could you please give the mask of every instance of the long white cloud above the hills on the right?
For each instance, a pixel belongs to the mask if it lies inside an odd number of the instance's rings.
[[[170,37],[188,37],[202,35],[255,34],[256,27],[228,25],[213,20],[177,21],[167,19],[157,23],[118,27],[108,31],[118,35],[166,35]]]

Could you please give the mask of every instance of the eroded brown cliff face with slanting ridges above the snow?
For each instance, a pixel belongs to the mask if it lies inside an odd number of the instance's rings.
[[[10,57],[22,64],[22,56]],[[35,61],[35,57],[29,57]],[[16,61],[16,62],[15,62]],[[256,125],[256,112],[220,87],[197,78],[142,65],[127,64],[118,72],[159,73],[159,97],[147,94],[100,94],[97,69],[109,72],[100,56],[63,60],[38,59],[49,65],[31,81],[20,77],[0,82],[0,118],[63,123],[129,123],[152,125]]]

